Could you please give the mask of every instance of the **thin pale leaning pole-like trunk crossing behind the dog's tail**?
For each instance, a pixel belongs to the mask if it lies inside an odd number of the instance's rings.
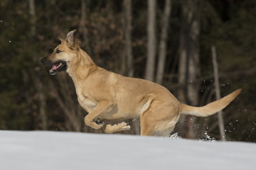
[[[216,99],[220,99],[220,83],[219,83],[219,76],[218,76],[218,62],[216,56],[216,49],[215,46],[211,47],[212,56],[213,56],[213,72],[214,72],[214,85],[215,85],[215,93]],[[223,120],[223,111],[218,112],[218,126],[220,130],[220,140],[225,141],[225,126]]]

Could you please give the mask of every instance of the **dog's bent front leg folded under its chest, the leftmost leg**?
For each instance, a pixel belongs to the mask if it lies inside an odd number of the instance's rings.
[[[95,120],[100,117],[100,115],[107,113],[117,106],[117,103],[110,101],[99,101],[97,106],[85,116],[85,125],[88,125],[94,129],[100,129],[104,125],[102,123],[96,123]]]

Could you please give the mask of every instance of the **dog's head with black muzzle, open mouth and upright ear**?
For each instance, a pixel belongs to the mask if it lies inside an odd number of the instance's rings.
[[[75,60],[76,52],[79,49],[79,45],[74,37],[76,31],[76,29],[70,31],[65,40],[59,38],[61,41],[60,45],[55,47],[48,57],[40,60],[43,65],[51,66],[51,69],[49,70],[50,75],[65,71],[68,68],[68,64]]]

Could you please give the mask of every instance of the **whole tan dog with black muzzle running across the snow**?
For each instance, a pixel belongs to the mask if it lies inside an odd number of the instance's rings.
[[[140,117],[141,135],[169,136],[180,114],[208,116],[225,108],[241,89],[209,103],[193,107],[180,103],[164,86],[144,79],[124,77],[98,67],[89,55],[80,49],[74,38],[76,30],[61,40],[52,54],[41,60],[50,65],[50,74],[66,71],[73,79],[78,101],[89,114],[85,124],[99,129],[104,120],[127,120]],[[105,125],[105,132],[130,130],[122,122]]]

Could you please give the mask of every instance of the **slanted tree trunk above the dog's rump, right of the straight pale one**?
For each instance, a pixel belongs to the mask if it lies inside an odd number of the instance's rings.
[[[161,25],[161,37],[159,42],[159,60],[156,72],[156,83],[162,84],[164,78],[164,64],[166,62],[166,40],[169,28],[169,16],[171,13],[171,0],[166,0],[164,7],[164,15]]]

